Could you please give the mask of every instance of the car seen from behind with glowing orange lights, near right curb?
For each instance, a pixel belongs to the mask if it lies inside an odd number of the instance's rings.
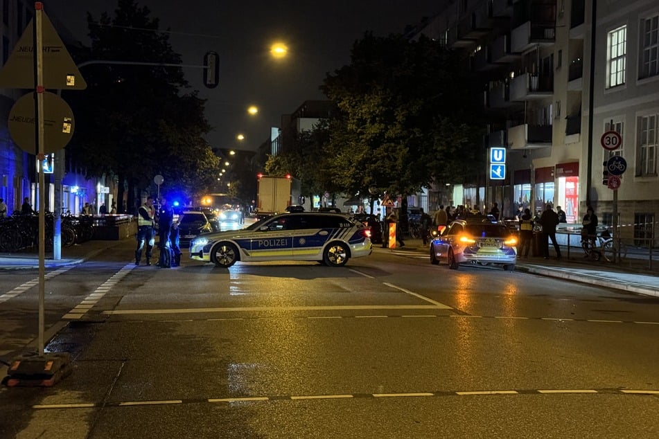
[[[430,241],[430,263],[446,262],[448,268],[461,264],[500,265],[507,271],[517,262],[515,231],[487,215],[455,220]]]

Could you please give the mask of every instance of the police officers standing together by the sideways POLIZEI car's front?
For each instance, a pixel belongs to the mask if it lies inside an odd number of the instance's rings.
[[[158,218],[158,245],[160,255],[158,266],[161,268],[178,267],[181,265],[181,249],[179,248],[179,229],[174,222],[174,210],[167,203],[166,197],[161,197],[160,207],[156,214],[153,197],[147,197],[144,204],[137,210],[137,249],[135,249],[135,265],[142,259],[145,249],[146,265],[151,265],[151,256],[155,245],[155,220]]]

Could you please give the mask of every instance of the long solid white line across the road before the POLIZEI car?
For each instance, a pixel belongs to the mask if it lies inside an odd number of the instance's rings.
[[[179,308],[173,310],[109,310],[103,314],[194,314],[203,312],[257,312],[257,311],[355,311],[355,310],[437,310],[434,305],[331,305],[331,306],[291,306],[291,307],[236,307],[236,308]]]

